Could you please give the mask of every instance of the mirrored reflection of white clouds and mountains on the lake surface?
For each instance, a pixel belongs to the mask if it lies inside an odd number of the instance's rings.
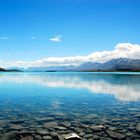
[[[45,87],[86,89],[121,101],[140,100],[140,76],[92,73],[1,74],[0,83],[32,83]],[[56,106],[59,106],[58,104]]]

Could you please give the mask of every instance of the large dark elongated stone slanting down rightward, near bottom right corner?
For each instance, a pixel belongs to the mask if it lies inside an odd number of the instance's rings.
[[[106,133],[113,139],[116,139],[116,140],[123,140],[126,138],[126,135],[125,134],[122,134],[122,133],[118,133],[118,132],[115,132],[115,131],[112,131],[112,130],[106,130]]]

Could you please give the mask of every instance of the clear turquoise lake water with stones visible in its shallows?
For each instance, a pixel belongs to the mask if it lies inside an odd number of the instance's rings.
[[[1,138],[140,140],[139,123],[140,73],[0,73]]]

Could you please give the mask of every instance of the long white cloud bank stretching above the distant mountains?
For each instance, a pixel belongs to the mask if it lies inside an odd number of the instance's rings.
[[[80,65],[84,62],[106,62],[116,58],[140,59],[140,45],[119,43],[111,51],[93,52],[87,56],[48,57],[36,61],[0,61],[0,67],[41,67]]]

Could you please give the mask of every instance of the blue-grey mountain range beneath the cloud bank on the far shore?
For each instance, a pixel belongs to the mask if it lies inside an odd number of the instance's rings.
[[[26,71],[140,71],[140,59],[118,58],[105,63],[86,62],[79,66],[30,67]]]

